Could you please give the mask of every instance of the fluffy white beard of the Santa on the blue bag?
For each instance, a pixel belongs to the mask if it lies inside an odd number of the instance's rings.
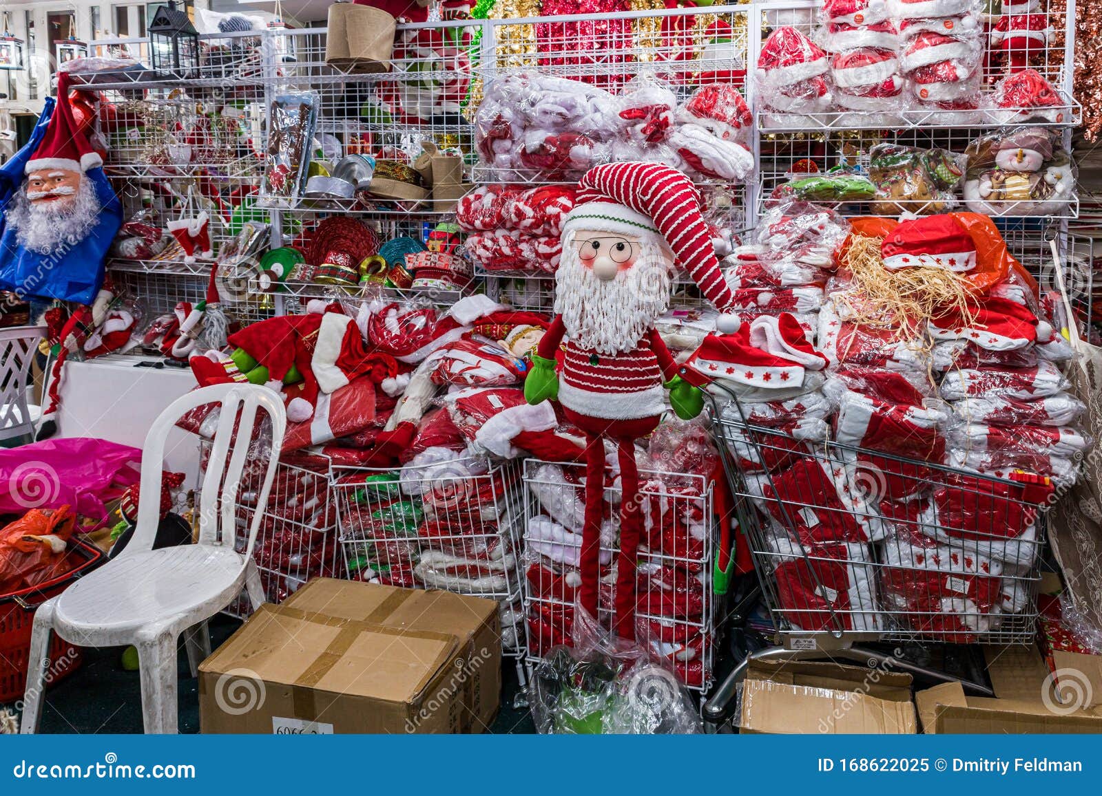
[[[23,184],[7,210],[17,242],[39,254],[53,254],[88,237],[99,221],[99,197],[87,175],[71,199],[32,203]]]

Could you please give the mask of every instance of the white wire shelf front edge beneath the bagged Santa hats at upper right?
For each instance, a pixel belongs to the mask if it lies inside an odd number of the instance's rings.
[[[763,133],[792,133],[849,130],[960,130],[965,128],[990,129],[1039,124],[1044,127],[1078,127],[1082,120],[1082,106],[1060,92],[1062,103],[1034,113],[1030,108],[981,108],[961,112],[957,119],[946,111],[908,109],[892,113],[883,111],[830,111],[827,113],[776,113],[761,111],[758,130]]]

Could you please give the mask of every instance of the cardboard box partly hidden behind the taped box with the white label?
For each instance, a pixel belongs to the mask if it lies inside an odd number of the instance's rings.
[[[462,663],[455,665],[469,670],[462,684],[460,731],[483,732],[494,723],[501,699],[501,629],[495,600],[450,591],[315,578],[284,600],[283,606],[397,630],[457,636]]]

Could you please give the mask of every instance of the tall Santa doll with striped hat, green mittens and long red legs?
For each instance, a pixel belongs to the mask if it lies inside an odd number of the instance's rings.
[[[580,604],[593,617],[601,577],[603,440],[617,446],[623,497],[614,630],[624,639],[635,637],[636,554],[642,530],[635,439],[658,425],[666,411],[663,388],[678,416],[695,417],[703,408],[700,391],[677,375],[678,367],[655,330],[669,308],[674,265],[716,307],[733,302],[700,205],[688,177],[666,165],[611,163],[585,174],[562,225],[555,318],[525,381],[529,403],[558,399],[566,418],[585,433]]]

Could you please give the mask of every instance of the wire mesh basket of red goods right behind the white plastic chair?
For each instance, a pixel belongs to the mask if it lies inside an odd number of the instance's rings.
[[[210,443],[199,445],[199,465],[205,470]],[[328,464],[309,465],[281,461],[276,469],[268,502],[257,505],[264,466],[246,466],[235,506],[237,527],[235,547],[244,552],[248,528],[259,510],[262,514],[252,557],[260,570],[260,581],[269,602],[280,603],[311,578],[339,575],[339,549],[336,533],[336,506],[331,499]],[[202,483],[202,471],[199,475]],[[234,617],[251,613],[242,595],[226,610]]]

